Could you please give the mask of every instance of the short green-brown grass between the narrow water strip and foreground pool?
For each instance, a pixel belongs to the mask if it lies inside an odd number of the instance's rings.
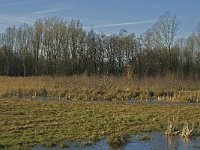
[[[117,140],[140,132],[164,133],[168,118],[174,114],[178,114],[180,126],[188,121],[199,127],[199,105],[4,99],[0,100],[0,148],[27,149],[71,140]]]

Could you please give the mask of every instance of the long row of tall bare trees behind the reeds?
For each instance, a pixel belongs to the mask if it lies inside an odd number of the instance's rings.
[[[136,37],[84,30],[78,20],[38,19],[0,34],[0,75],[124,75],[200,77],[200,25],[176,38],[180,21],[166,12]]]

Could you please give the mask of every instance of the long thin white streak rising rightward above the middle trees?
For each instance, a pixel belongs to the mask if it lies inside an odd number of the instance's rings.
[[[156,20],[135,21],[135,22],[123,22],[123,23],[116,23],[116,24],[103,24],[103,25],[85,26],[84,28],[115,27],[115,26],[126,26],[126,25],[149,24],[149,23],[154,23],[154,22],[156,22]]]

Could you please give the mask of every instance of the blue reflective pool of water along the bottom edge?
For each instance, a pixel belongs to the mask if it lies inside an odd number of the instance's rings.
[[[179,136],[167,136],[161,133],[148,133],[151,140],[139,140],[142,135],[132,136],[126,145],[118,147],[118,150],[197,150],[200,149],[200,138],[191,138],[184,140]],[[80,143],[68,143],[70,150],[114,150],[116,148],[109,147],[106,140],[102,140],[94,145],[83,146]],[[59,146],[53,148],[45,148],[37,146],[33,150],[59,150]],[[65,148],[64,148],[65,149]],[[63,149],[62,149],[63,150]]]

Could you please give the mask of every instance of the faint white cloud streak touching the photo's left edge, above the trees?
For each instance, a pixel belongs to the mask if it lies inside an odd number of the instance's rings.
[[[0,19],[4,20],[9,20],[9,21],[14,21],[14,22],[21,22],[21,23],[28,23],[31,24],[34,22],[34,19],[29,19],[29,18],[24,18],[24,17],[16,17],[16,16],[8,16],[8,15],[1,15],[0,14]]]

